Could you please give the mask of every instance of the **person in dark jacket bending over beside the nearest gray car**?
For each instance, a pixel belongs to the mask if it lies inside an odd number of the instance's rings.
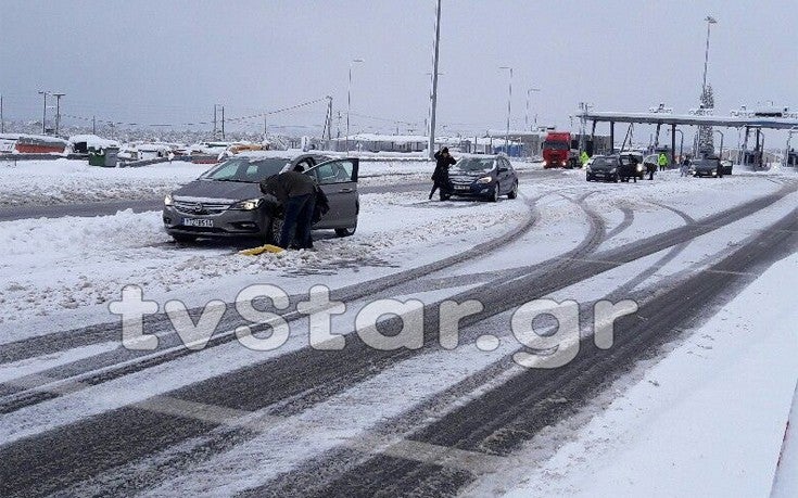
[[[261,191],[277,197],[284,218],[277,245],[288,248],[293,239],[299,248],[312,248],[311,227],[316,206],[316,180],[299,171],[273,175],[261,183]]]

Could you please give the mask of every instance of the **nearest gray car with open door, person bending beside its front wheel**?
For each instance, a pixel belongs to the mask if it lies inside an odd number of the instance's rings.
[[[359,212],[359,163],[357,158],[326,158],[317,154],[290,156],[284,152],[235,156],[164,199],[164,228],[178,242],[250,237],[274,243],[282,209],[277,199],[261,192],[259,182],[302,165],[306,175],[316,178],[330,205],[314,229],[333,229],[339,237],[351,235],[357,228]]]

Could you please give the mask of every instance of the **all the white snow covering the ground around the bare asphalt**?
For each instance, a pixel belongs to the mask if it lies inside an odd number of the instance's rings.
[[[105,169],[66,159],[0,164],[0,205],[160,195],[195,178],[205,167],[174,163]],[[389,184],[405,181],[408,176],[426,181],[429,168],[428,163],[384,161],[364,163],[360,170],[363,183]],[[523,224],[531,216],[527,202],[535,200],[539,219],[534,230],[481,259],[480,271],[501,272],[517,268],[519,261],[533,265],[577,247],[591,229],[597,229],[590,222],[591,212],[608,235],[598,247],[604,251],[688,222],[700,222],[714,213],[776,192],[794,179],[794,171],[743,173],[723,180],[681,178],[677,171],[667,171],[658,174],[654,182],[630,186],[587,183],[583,171],[572,170],[522,180],[521,200],[497,204],[428,202],[426,192],[365,194],[360,197],[362,214],[355,235],[335,239],[319,232],[315,252],[256,257],[237,253],[252,245],[246,243],[176,244],[163,232],[160,212],[3,221],[0,346],[52,331],[111,321],[115,317],[109,314],[107,303],[118,298],[127,284],[140,285],[147,299],[162,305],[168,299],[181,299],[189,307],[211,299],[230,302],[253,283],[277,284],[289,294],[305,293],[314,284],[341,288],[415,268],[492,240]],[[651,265],[656,271],[633,289],[667,283],[680,272],[700,271],[718,254],[734,248],[793,209],[797,199],[793,193],[756,217],[718,227],[669,258],[666,252],[651,254],[550,297],[578,297],[582,302],[601,298],[608,290],[619,288]],[[663,263],[659,264],[660,260]],[[452,295],[473,284],[473,272],[474,268],[467,265],[453,268],[452,277],[461,278],[459,284],[410,295],[422,301],[425,295],[430,299]],[[507,459],[510,465],[478,481],[467,494],[768,495],[798,378],[798,312],[794,293],[785,291],[796,288],[798,255],[793,254],[697,330],[685,331],[663,352],[663,358],[639,363],[579,414],[544,430]],[[767,309],[771,312],[751,312],[764,310],[763,301],[769,303]],[[357,309],[347,309],[346,318],[351,319]],[[508,314],[492,320],[506,319]],[[286,348],[269,355],[299,348],[304,339],[292,337]],[[0,382],[116,347],[116,343],[98,343],[7,363],[0,367]],[[288,470],[342,439],[357,439],[370,430],[375,412],[382,418],[397,416],[511,350],[512,343],[505,341],[493,354],[459,348],[425,353],[397,363],[318,409],[308,410],[300,417],[302,423],[294,432],[283,434],[283,427],[277,426],[237,449],[235,455],[245,461],[254,461],[253,455],[279,454],[288,447],[295,451],[282,455],[279,461],[264,460],[248,467],[246,472],[238,475],[241,481],[235,486],[250,481],[256,485],[265,478],[266,471]],[[138,403],[263,358],[255,352],[224,345],[169,361],[93,391],[5,417],[3,420],[9,423],[3,424],[0,440]],[[429,376],[431,365],[440,372],[433,380]],[[356,422],[346,431],[331,430],[319,437],[317,431],[307,430],[343,416]],[[795,426],[798,421],[793,422]],[[795,439],[788,437],[787,442]],[[787,444],[781,470],[785,476],[776,480],[780,496],[794,496],[789,491],[794,487],[789,486],[795,483],[795,443]],[[199,478],[212,472],[218,474],[221,483],[224,476],[237,471],[225,464],[242,461],[229,457],[223,454],[154,493],[172,495],[190,486],[199,486],[199,493],[203,486]]]

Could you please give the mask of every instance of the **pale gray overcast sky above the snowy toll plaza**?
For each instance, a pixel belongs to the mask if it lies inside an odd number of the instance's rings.
[[[0,93],[7,116],[31,120],[40,119],[40,89],[66,93],[66,116],[126,123],[206,122],[214,103],[233,117],[325,95],[345,113],[350,61],[362,58],[353,68],[353,131],[395,131],[393,122],[407,122],[416,125],[400,131],[423,133],[434,5],[0,0]],[[523,125],[533,86],[540,124],[567,127],[580,101],[599,111],[663,102],[686,112],[700,93],[707,14],[718,20],[708,80],[719,114],[764,101],[798,106],[795,0],[443,0],[439,123],[503,129],[508,72],[499,66],[515,69],[514,128]],[[325,105],[268,120],[318,127]]]

